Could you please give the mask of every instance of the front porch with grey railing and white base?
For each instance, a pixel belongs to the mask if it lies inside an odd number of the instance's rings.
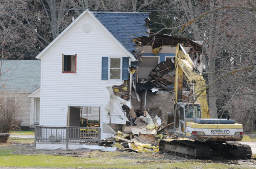
[[[100,127],[35,126],[35,149],[79,149],[83,144],[99,145]]]

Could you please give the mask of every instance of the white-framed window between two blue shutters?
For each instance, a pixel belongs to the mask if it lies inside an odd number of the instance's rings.
[[[109,79],[121,79],[120,58],[110,58]]]

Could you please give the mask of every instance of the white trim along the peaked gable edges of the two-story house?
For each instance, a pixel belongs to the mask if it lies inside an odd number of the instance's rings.
[[[113,40],[122,48],[122,50],[129,56],[131,57],[131,59],[133,61],[136,60],[136,58],[125,48],[123,47],[123,45],[108,31],[107,28],[105,28],[104,25],[102,25],[102,23],[100,23],[100,21],[89,11],[89,10],[85,10],[83,13],[81,13],[79,15],[79,17],[76,18],[76,20],[74,20],[72,23],[70,23],[70,25],[67,26],[67,28],[64,29],[64,31],[61,32],[61,34],[58,35],[58,37],[56,37],[49,45],[47,45],[46,48],[44,48],[43,51],[41,51],[38,56],[36,56],[37,59],[39,59],[42,54],[44,54],[45,51],[47,51],[63,34],[65,34],[65,32],[67,32],[82,16],[84,16],[84,14],[90,14],[91,17],[93,17],[94,20],[96,20],[97,23],[99,23],[99,25],[111,36],[111,38],[113,38]]]

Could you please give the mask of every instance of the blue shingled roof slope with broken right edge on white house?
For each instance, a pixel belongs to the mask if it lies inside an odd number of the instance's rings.
[[[95,17],[130,52],[136,50],[133,39],[148,37],[145,19],[149,13],[142,12],[93,12]]]

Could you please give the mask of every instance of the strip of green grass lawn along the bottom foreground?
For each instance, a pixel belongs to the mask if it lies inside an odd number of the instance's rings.
[[[108,152],[105,152],[108,153]],[[239,165],[227,165],[223,163],[204,163],[203,161],[146,161],[113,158],[111,155],[107,158],[85,158],[85,157],[67,157],[54,155],[8,155],[0,156],[0,166],[4,167],[61,167],[61,168],[126,168],[126,169],[170,169],[170,168],[201,168],[201,169],[233,169],[241,168]],[[250,168],[244,165],[244,168]]]

